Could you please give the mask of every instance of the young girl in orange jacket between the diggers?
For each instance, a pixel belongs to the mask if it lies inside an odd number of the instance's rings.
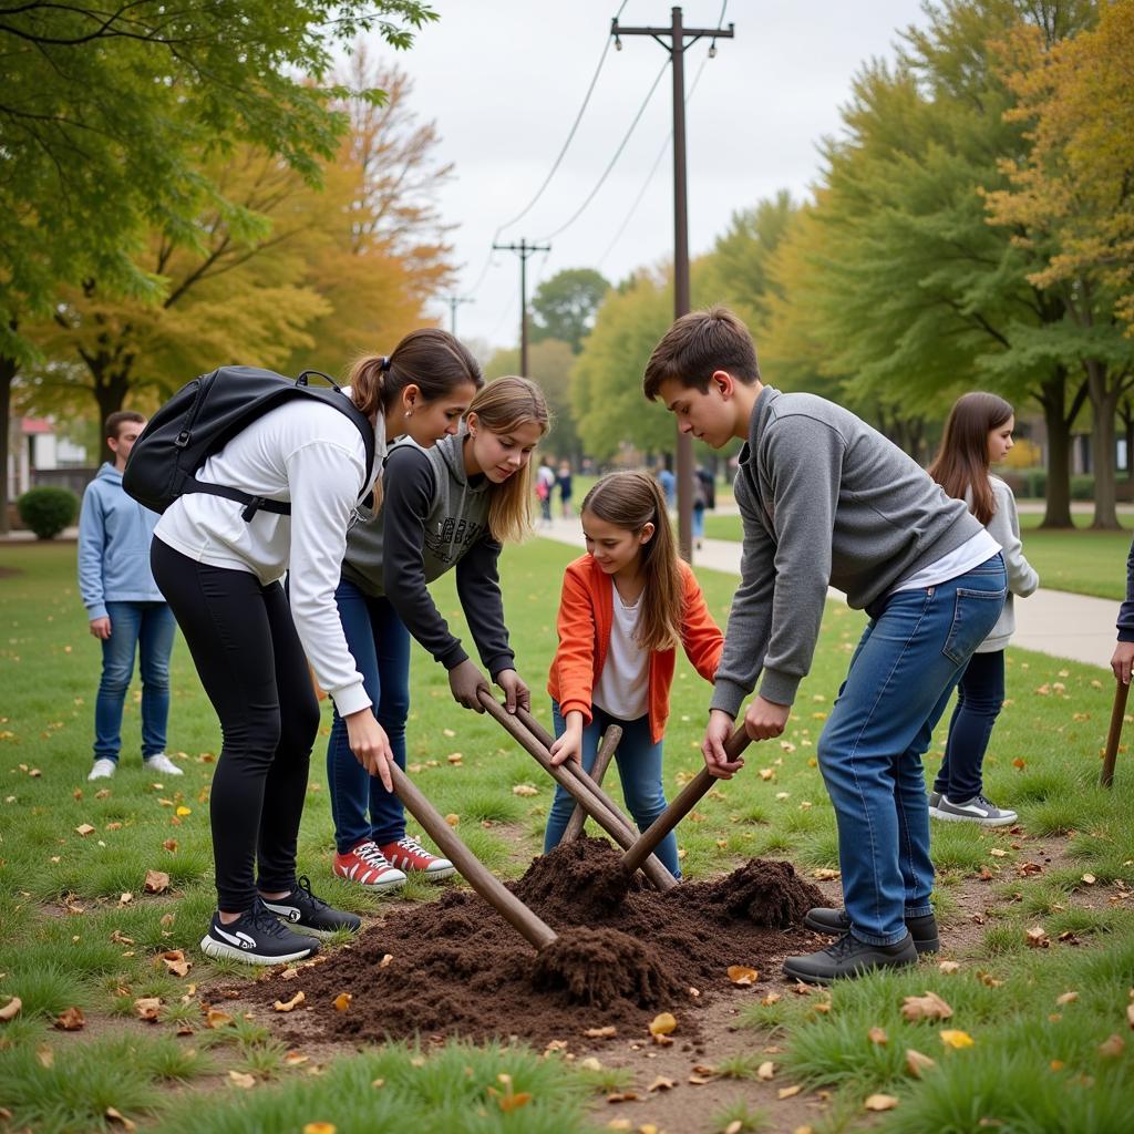
[[[626,805],[640,830],[666,809],[661,743],[669,717],[677,643],[712,682],[725,638],[688,564],[677,557],[661,490],[645,473],[611,473],[583,500],[587,553],[567,567],[559,600],[559,649],[548,692],[555,763],[591,770],[599,737],[618,725],[616,759]],[[562,838],[575,801],[561,787],[548,815],[544,853]],[[657,850],[675,878],[672,832]]]

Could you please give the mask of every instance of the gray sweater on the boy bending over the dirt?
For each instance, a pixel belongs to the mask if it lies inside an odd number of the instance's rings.
[[[711,706],[735,717],[755,688],[792,704],[811,659],[827,587],[865,609],[978,535],[964,501],[849,411],[764,387],[741,450],[741,586]]]

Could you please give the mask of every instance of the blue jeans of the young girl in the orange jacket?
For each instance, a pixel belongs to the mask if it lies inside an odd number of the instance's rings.
[[[666,793],[661,782],[661,741],[657,744],[650,738],[650,717],[638,717],[637,720],[620,720],[598,705],[591,706],[593,717],[591,723],[583,729],[583,769],[590,772],[594,767],[594,758],[599,752],[599,741],[608,725],[618,725],[623,738],[615,753],[618,762],[618,778],[623,784],[623,795],[626,806],[634,816],[640,831],[644,831],[665,810]],[[562,736],[566,730],[557,702],[551,702],[551,719],[555,722],[556,736]],[[559,845],[564,829],[575,810],[575,797],[561,787],[556,787],[556,797],[548,814],[548,829],[543,836],[543,853],[547,854]],[[674,878],[680,878],[677,865],[677,836],[670,831],[658,845],[654,854]]]

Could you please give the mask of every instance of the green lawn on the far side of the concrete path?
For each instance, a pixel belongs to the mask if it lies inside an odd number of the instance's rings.
[[[1122,532],[1094,532],[1090,516],[1075,516],[1076,530],[1041,531],[1036,513],[1019,517],[1024,555],[1040,574],[1040,586],[1072,591],[1120,602],[1126,598],[1126,556],[1131,548],[1134,517],[1119,517]],[[744,538],[739,516],[705,516],[705,535],[711,540]]]

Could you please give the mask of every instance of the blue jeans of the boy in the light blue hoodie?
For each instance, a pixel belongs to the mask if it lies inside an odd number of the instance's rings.
[[[142,670],[142,758],[166,751],[169,723],[169,655],[177,620],[164,602],[108,602],[110,637],[102,640],[102,679],[94,702],[94,759],[113,760],[122,747],[122,705]]]

